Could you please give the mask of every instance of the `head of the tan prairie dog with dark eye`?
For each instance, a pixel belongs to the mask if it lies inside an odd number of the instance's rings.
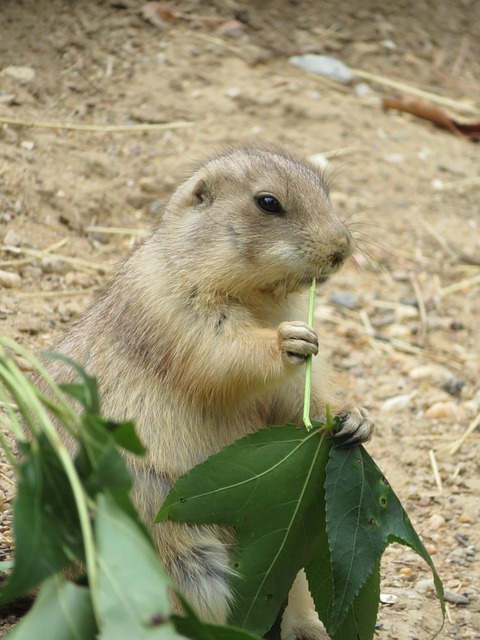
[[[234,149],[177,189],[158,229],[172,260],[220,293],[288,294],[335,273],[353,239],[321,175],[280,152]],[[173,263],[172,263],[173,265]],[[188,277],[188,276],[187,276]]]

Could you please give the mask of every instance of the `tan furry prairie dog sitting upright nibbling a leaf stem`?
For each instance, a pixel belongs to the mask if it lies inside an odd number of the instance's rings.
[[[233,149],[175,191],[151,236],[55,347],[98,378],[105,415],[135,421],[148,455],[130,464],[147,523],[172,483],[211,454],[268,424],[301,425],[302,365],[318,338],[300,321],[307,304],[299,294],[312,276],[334,274],[353,248],[313,167],[274,150]],[[320,418],[328,374],[314,360]],[[49,368],[71,377],[60,363]],[[365,410],[344,418],[352,442],[370,437]],[[228,531],[151,530],[177,588],[204,619],[224,623],[233,598]],[[283,635],[327,637],[312,615],[302,622],[306,608],[300,577]]]

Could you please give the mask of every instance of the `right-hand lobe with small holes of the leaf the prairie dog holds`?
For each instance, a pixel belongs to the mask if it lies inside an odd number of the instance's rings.
[[[424,558],[433,571],[442,602],[442,585],[428,552],[399,499],[363,447],[331,449],[325,501],[333,602],[323,621],[330,635],[335,639],[347,637],[337,635],[345,616],[350,615],[355,597],[372,574],[385,547],[393,541],[408,545]],[[368,591],[373,594],[373,590]],[[319,589],[314,589],[313,597],[320,606],[322,593]],[[368,601],[367,604],[368,611],[378,607],[378,602]],[[348,637],[357,638],[357,635]]]

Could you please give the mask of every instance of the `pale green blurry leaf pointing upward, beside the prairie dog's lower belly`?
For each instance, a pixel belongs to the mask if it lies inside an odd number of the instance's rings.
[[[95,536],[101,640],[174,640],[169,581],[143,530],[105,495],[97,499]]]

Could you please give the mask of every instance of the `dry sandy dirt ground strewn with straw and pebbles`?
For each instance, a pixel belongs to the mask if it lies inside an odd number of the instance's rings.
[[[478,429],[451,449],[480,407],[480,147],[384,112],[381,99],[394,90],[378,81],[343,86],[287,61],[334,56],[478,115],[480,4],[191,0],[164,7],[156,24],[143,6],[1,4],[0,117],[25,124],[0,123],[0,269],[13,274],[0,273],[0,332],[51,346],[192,162],[219,145],[322,154],[332,200],[358,243],[356,264],[319,289],[325,349],[344,401],[374,416],[369,451],[445,587],[466,596],[448,605],[439,637],[480,638]],[[27,70],[19,79],[5,71],[12,66]],[[159,128],[178,121],[188,126]],[[138,129],[147,123],[157,128]],[[5,464],[0,485],[8,555]],[[425,565],[390,547],[382,575],[382,591],[396,599],[381,606],[378,637],[432,637],[441,616]]]

